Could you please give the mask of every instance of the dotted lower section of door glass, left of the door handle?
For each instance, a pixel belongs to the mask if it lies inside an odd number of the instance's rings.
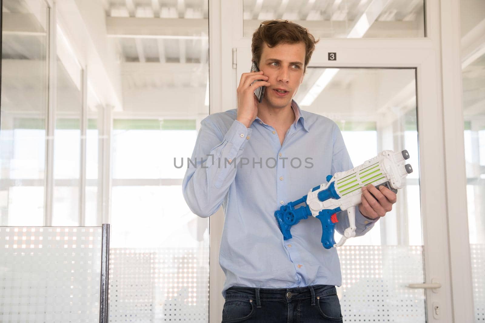
[[[341,246],[337,251],[344,322],[426,322],[424,290],[406,287],[424,281],[422,246]]]

